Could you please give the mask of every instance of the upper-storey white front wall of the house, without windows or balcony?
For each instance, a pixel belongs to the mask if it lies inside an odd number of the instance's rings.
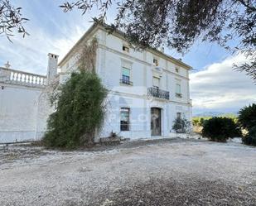
[[[162,68],[161,89],[170,92],[171,101],[189,103],[190,93],[187,69],[182,68],[180,65],[175,65],[171,60],[163,59],[160,55],[154,55],[148,50],[134,51],[130,49],[129,52],[123,51],[122,47],[125,42],[116,36],[104,34],[104,32],[98,31],[100,43],[97,53],[97,73],[108,89],[147,95],[147,88],[152,87],[152,73],[155,68],[152,61],[154,57],[157,57],[159,67]],[[122,61],[128,61],[132,65],[132,87],[119,83]],[[176,73],[176,67],[179,68],[179,73]],[[176,80],[181,83],[182,98],[176,98]]]

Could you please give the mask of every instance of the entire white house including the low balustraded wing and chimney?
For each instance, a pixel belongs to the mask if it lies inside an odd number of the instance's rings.
[[[111,132],[130,139],[176,137],[171,130],[175,118],[191,120],[191,66],[160,50],[133,50],[122,32],[109,35],[106,29],[95,23],[59,64],[58,55],[49,54],[46,76],[0,68],[0,142],[42,137],[52,112],[46,89],[77,70],[77,48],[94,37],[95,71],[109,91],[108,113],[95,141]]]

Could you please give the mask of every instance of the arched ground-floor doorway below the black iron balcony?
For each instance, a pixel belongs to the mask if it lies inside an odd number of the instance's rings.
[[[151,108],[151,135],[161,136],[161,108]]]

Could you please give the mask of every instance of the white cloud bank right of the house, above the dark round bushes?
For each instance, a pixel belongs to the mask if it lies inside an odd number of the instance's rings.
[[[234,64],[246,61],[244,55],[235,55],[191,74],[194,111],[231,112],[255,103],[256,85],[244,73],[233,69]]]

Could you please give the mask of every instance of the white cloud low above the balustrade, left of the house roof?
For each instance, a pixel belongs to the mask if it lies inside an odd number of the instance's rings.
[[[47,54],[51,52],[60,55],[60,59],[63,58],[85,31],[86,29],[75,26],[70,29],[69,35],[60,34],[57,37],[36,28],[33,34],[25,39],[22,36],[14,36],[13,44],[4,39],[0,45],[0,63],[4,64],[9,60],[13,69],[46,74]]]

